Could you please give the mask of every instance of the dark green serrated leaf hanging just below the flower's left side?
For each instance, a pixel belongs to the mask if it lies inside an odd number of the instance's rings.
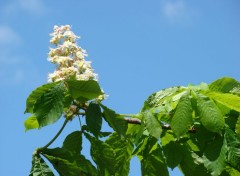
[[[64,84],[56,84],[44,92],[34,105],[33,113],[38,120],[39,127],[56,122],[64,109]]]

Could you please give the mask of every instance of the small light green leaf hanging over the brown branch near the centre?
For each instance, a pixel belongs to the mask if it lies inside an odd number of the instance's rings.
[[[149,134],[156,139],[159,139],[162,133],[162,127],[159,121],[150,112],[146,112],[143,116],[143,119],[146,123],[146,128]]]

